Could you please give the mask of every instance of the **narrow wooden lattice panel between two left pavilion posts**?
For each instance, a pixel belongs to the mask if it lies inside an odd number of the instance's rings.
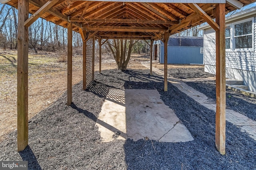
[[[86,84],[92,82],[92,38],[86,41]]]

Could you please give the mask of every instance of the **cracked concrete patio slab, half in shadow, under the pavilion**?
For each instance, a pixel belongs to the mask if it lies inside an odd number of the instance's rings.
[[[127,138],[162,142],[193,140],[174,111],[163,103],[157,90],[121,91],[110,89],[102,106],[96,123],[102,141]],[[119,95],[113,97],[116,93]]]

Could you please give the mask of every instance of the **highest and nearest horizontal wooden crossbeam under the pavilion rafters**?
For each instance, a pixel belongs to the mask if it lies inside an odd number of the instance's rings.
[[[180,21],[170,20],[137,20],[137,19],[94,19],[94,18],[74,18],[70,21],[76,22],[106,22],[106,23],[153,23],[153,24],[179,24]]]

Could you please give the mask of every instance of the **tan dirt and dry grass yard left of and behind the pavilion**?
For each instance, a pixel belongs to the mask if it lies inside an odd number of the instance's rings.
[[[65,56],[64,56],[65,57]],[[67,88],[67,63],[63,54],[29,52],[28,56],[28,118],[55,102]],[[146,69],[140,62],[148,55],[132,55],[128,69]],[[82,56],[73,56],[72,84],[82,80]],[[116,68],[111,56],[102,56],[102,70]],[[0,140],[17,127],[17,51],[0,50]],[[95,71],[99,70],[96,54]]]

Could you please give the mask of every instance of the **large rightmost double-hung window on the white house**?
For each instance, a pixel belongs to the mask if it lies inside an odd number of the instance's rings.
[[[252,20],[234,24],[235,49],[252,48]]]

